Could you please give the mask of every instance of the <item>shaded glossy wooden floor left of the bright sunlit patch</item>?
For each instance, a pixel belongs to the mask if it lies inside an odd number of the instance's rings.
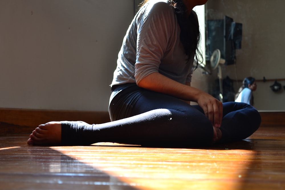
[[[134,189],[50,147],[26,145],[27,135],[0,138],[0,189]]]

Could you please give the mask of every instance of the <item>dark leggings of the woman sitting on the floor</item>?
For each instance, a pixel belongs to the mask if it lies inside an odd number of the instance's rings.
[[[62,144],[88,145],[117,142],[161,147],[207,146],[213,126],[203,110],[175,97],[137,87],[120,85],[111,95],[111,122],[87,124],[62,122]],[[223,103],[221,142],[242,140],[255,132],[260,115],[245,103]]]

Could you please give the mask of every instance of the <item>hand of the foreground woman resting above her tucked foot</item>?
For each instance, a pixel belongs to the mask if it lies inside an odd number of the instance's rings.
[[[223,118],[223,104],[207,93],[200,94],[197,103],[213,126],[220,127]]]

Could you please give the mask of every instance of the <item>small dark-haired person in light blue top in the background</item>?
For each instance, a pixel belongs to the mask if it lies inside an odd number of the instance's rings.
[[[257,84],[254,77],[246,77],[243,79],[243,85],[239,88],[235,97],[235,102],[243,102],[253,105],[252,92],[256,91]]]

